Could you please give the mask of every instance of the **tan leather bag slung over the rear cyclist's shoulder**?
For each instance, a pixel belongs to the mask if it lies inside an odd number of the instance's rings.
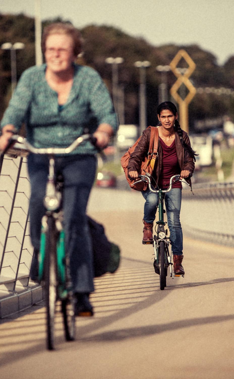
[[[158,156],[158,128],[153,127],[153,126],[149,126],[148,128],[151,129],[150,130],[150,145],[149,145],[148,157],[145,157],[144,161],[141,164],[141,175],[144,175],[145,172],[149,172],[150,174],[152,174],[153,169],[154,169],[154,164]],[[120,163],[123,168],[123,171],[125,172],[125,176],[126,176],[129,186],[133,189],[136,189],[136,191],[145,191],[148,186],[147,183],[139,182],[137,184],[133,184],[134,182],[136,182],[136,179],[132,180],[132,179],[129,179],[128,177],[128,161],[131,156],[131,153],[134,152],[140,139],[141,139],[141,136],[137,139],[137,141],[134,143],[132,147],[129,147],[128,151],[123,155],[123,157],[121,157]]]

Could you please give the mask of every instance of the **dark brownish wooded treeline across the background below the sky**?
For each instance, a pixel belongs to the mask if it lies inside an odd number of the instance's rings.
[[[51,22],[69,22],[61,17],[48,19],[43,26]],[[158,65],[168,65],[180,49],[184,49],[196,63],[196,69],[190,80],[195,87],[234,86],[234,57],[229,58],[225,65],[218,66],[216,57],[201,49],[198,45],[163,45],[160,47],[149,44],[142,38],[134,38],[122,30],[102,25],[88,25],[81,30],[84,39],[84,54],[78,63],[94,67],[101,75],[109,91],[112,91],[111,65],[105,63],[108,56],[121,56],[124,63],[118,67],[119,85],[125,92],[125,123],[138,124],[138,91],[139,69],[134,67],[135,61],[148,60],[151,66],[147,72],[147,114],[148,124],[157,123],[156,109],[158,105],[158,87],[161,74],[156,71]],[[0,44],[4,42],[23,42],[25,49],[17,51],[17,77],[23,70],[35,63],[34,53],[34,19],[23,14],[0,14]],[[180,67],[187,67],[181,60]],[[9,51],[0,50],[0,117],[10,97],[11,67]],[[175,83],[176,77],[168,73],[168,87]],[[226,96],[215,94],[196,94],[189,106],[190,130],[196,119],[232,114],[232,101]]]

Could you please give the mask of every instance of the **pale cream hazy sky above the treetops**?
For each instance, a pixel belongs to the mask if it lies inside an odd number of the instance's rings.
[[[42,19],[61,16],[77,28],[112,25],[155,46],[197,44],[218,64],[234,55],[233,0],[35,0]],[[0,13],[34,16],[34,0],[0,0]]]

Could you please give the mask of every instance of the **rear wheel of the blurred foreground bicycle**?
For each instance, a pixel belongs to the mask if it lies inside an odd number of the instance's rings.
[[[62,300],[62,315],[63,315],[63,322],[64,322],[65,338],[67,341],[74,341],[75,339],[75,301],[72,297]]]

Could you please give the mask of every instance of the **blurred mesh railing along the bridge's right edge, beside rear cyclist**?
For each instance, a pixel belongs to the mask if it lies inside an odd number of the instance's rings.
[[[234,183],[201,183],[182,191],[181,223],[192,237],[234,246]]]

